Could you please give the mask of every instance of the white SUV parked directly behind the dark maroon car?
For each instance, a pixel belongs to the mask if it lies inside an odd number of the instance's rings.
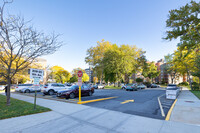
[[[53,95],[54,93],[58,92],[59,90],[67,89],[69,87],[65,86],[64,84],[60,83],[49,83],[45,84],[44,87],[41,89],[44,95]]]

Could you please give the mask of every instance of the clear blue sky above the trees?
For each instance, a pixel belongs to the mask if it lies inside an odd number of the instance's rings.
[[[68,71],[87,68],[86,51],[104,39],[117,45],[136,45],[149,61],[173,53],[179,40],[166,41],[169,10],[190,0],[14,0],[6,12],[21,15],[45,34],[61,34],[65,45],[43,56],[50,66]]]

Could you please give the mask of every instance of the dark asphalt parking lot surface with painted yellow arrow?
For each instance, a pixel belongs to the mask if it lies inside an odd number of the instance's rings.
[[[165,88],[147,88],[138,91],[125,91],[121,89],[120,90],[96,89],[95,93],[92,96],[82,97],[82,101],[115,97],[109,100],[86,103],[84,105],[97,108],[104,108],[144,117],[165,119],[165,117],[161,115],[158,97],[161,96],[160,101],[165,116],[167,115],[167,112],[169,111],[174,100],[167,100],[164,94],[165,94]],[[25,95],[34,96],[34,93]],[[75,99],[61,99],[57,98],[56,95],[43,96],[41,92],[37,93],[37,97],[59,100],[63,102],[70,102],[75,104],[78,102],[78,97]]]

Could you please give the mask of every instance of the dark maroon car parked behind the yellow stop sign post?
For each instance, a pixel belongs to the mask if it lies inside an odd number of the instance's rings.
[[[94,87],[91,85],[82,85],[81,86],[81,96],[91,96],[94,93]],[[79,96],[79,86],[73,85],[70,88],[63,89],[57,92],[57,97],[62,98],[75,98]]]

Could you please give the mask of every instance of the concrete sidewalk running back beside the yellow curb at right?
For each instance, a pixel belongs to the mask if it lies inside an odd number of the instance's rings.
[[[183,88],[178,96],[170,121],[200,126],[200,100],[187,88]]]

